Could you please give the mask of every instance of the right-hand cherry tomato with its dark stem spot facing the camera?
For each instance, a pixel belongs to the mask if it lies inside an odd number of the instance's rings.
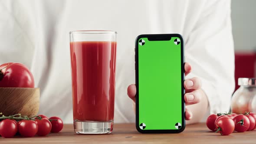
[[[250,120],[245,115],[236,115],[233,121],[235,122],[235,131],[237,132],[247,131],[250,126]]]

